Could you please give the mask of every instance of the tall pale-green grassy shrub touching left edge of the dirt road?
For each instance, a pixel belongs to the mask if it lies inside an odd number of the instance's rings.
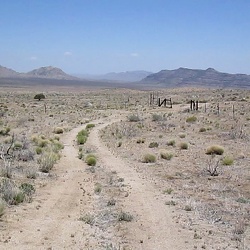
[[[55,163],[59,160],[60,156],[54,152],[44,152],[38,159],[38,164],[40,165],[40,171],[43,173],[48,173]]]

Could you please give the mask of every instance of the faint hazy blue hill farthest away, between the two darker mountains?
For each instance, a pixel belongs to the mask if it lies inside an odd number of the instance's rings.
[[[104,81],[117,81],[117,82],[138,82],[152,74],[152,72],[138,70],[126,71],[119,73],[107,73],[104,75],[76,75],[85,79],[104,80]]]

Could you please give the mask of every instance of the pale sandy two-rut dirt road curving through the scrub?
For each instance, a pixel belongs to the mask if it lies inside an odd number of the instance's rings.
[[[81,128],[76,128],[62,138],[65,148],[53,170],[56,177],[44,181],[32,203],[13,207],[3,218],[0,249],[193,249],[190,234],[172,221],[173,208],[164,205],[162,194],[137,172],[135,163],[113,155],[100,140],[100,129],[117,119],[96,121],[86,147],[97,155],[99,173],[113,172],[124,179],[119,186],[122,192],[108,198],[117,200],[117,213],[128,212],[133,220],[113,221],[107,228],[105,223],[89,225],[79,220],[83,214],[104,211],[94,185],[105,175],[86,171],[86,164],[77,158],[74,139]]]

